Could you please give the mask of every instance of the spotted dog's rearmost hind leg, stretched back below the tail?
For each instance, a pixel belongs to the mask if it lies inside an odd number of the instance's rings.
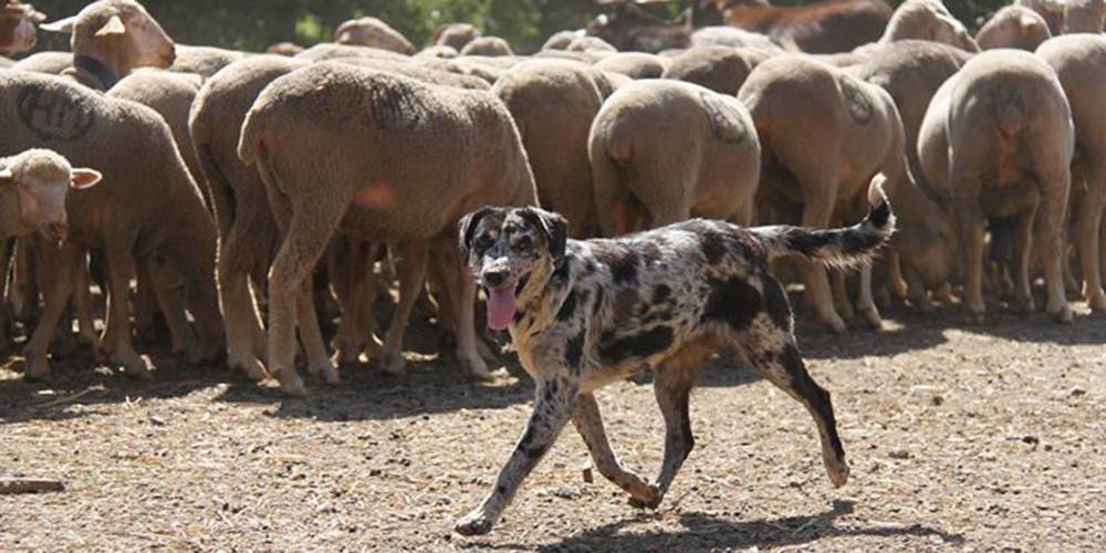
[[[769,285],[765,283],[765,288]],[[761,319],[769,317],[762,315]],[[822,439],[822,460],[830,480],[835,487],[844,486],[848,480],[848,463],[845,462],[845,449],[837,436],[830,393],[818,386],[806,372],[792,333],[781,327],[762,326],[743,333],[740,345],[745,359],[758,373],[797,399],[814,417]]]

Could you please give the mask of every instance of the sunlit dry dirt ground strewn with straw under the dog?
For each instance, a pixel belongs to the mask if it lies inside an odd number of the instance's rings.
[[[492,384],[427,357],[404,377],[347,367],[306,400],[164,355],[150,382],[80,361],[56,366],[53,387],[0,369],[0,477],[66,486],[0,497],[0,550],[1100,550],[1106,320],[888,317],[883,334],[839,338],[800,325],[833,393],[846,487],[831,488],[805,410],[719,359],[659,510],[635,510],[597,473],[585,482],[570,427],[477,539],[451,528],[522,430],[532,384],[517,366]],[[655,473],[648,378],[598,399],[620,458]]]

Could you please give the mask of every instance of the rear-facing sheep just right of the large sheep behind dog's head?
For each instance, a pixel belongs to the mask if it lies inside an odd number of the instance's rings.
[[[492,88],[519,127],[541,205],[568,219],[573,238],[598,230],[587,136],[604,96],[594,73],[574,62],[533,60]]]

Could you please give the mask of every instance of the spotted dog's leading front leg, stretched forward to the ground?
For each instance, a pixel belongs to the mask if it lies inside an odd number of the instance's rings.
[[[545,451],[564,429],[575,408],[580,386],[566,378],[545,378],[538,382],[534,411],[530,415],[526,431],[514,446],[514,451],[499,471],[495,487],[480,507],[453,526],[459,534],[487,534],[503,510],[514,498],[522,479],[538,465]]]

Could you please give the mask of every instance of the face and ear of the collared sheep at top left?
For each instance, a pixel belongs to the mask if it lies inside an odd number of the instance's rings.
[[[176,59],[173,39],[134,0],[100,0],[81,10],[73,21],[51,30],[73,33],[73,52],[92,55],[126,75],[135,67],[168,67]]]

